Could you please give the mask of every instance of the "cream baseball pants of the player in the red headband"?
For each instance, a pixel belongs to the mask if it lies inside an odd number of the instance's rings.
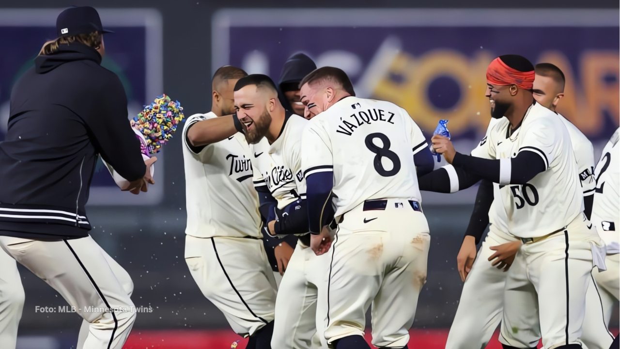
[[[522,245],[508,270],[500,342],[532,348],[542,337],[547,349],[582,344],[590,271],[595,264],[604,267],[593,261],[592,250],[602,247],[582,215],[564,230]]]

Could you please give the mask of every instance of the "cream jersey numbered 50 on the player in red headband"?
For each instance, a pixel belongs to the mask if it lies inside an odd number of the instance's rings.
[[[521,126],[509,132],[508,119],[498,120],[472,155],[502,159],[534,152],[546,170],[523,185],[494,183],[489,222],[521,238],[562,229],[583,211],[583,191],[567,127],[557,114],[534,103]]]

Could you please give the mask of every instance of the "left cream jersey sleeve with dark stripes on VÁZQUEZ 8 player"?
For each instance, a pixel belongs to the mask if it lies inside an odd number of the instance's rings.
[[[304,178],[319,172],[334,171],[334,156],[329,135],[319,122],[311,120],[301,137],[301,170]]]

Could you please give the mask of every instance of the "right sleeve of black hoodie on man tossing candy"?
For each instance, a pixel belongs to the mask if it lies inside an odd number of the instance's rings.
[[[82,116],[97,152],[128,181],[142,178],[146,165],[142,160],[140,142],[127,119],[127,97],[117,76],[104,83],[100,101],[99,113]]]

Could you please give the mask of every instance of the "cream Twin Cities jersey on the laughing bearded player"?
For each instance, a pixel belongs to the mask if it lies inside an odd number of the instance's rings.
[[[263,138],[250,144],[254,186],[267,186],[284,209],[297,199],[306,199],[306,181],[301,172],[301,134],[308,120],[286,112],[280,136],[269,144]]]

